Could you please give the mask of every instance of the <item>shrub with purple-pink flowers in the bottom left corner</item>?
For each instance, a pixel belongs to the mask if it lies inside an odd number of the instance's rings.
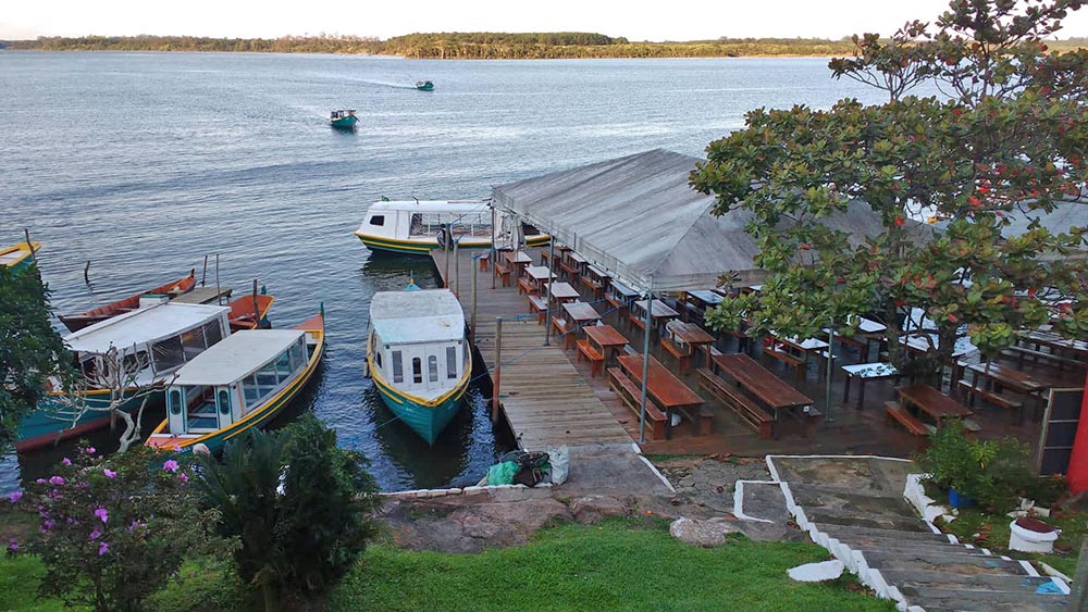
[[[36,537],[8,550],[41,558],[44,596],[97,611],[140,610],[183,555],[209,542],[215,514],[199,510],[189,469],[143,447],[109,459],[85,448],[10,497],[36,509],[40,524]]]

